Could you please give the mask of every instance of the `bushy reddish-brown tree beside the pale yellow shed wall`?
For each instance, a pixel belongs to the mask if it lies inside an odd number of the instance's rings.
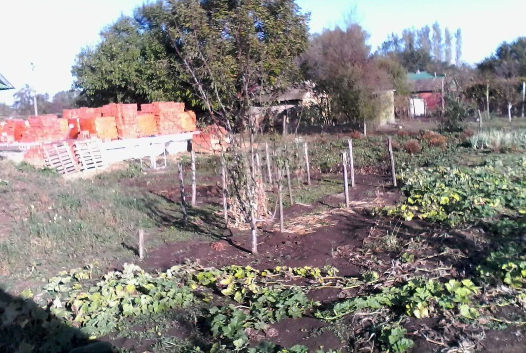
[[[339,121],[376,118],[382,106],[377,92],[392,88],[388,72],[371,57],[367,38],[357,24],[325,30],[311,40],[304,57],[307,77],[329,95],[332,113]]]

